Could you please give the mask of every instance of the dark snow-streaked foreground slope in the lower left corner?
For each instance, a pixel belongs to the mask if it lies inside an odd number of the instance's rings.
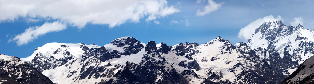
[[[53,84],[51,80],[18,57],[0,54],[0,82],[3,84]]]

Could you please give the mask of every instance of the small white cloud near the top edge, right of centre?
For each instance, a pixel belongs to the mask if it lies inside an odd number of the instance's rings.
[[[198,0],[198,1],[200,1],[200,0]],[[216,3],[213,0],[208,0],[208,5],[203,8],[203,11],[201,11],[201,9],[198,9],[196,11],[196,16],[204,16],[208,13],[214,12],[214,11],[218,10],[222,4],[224,4],[224,2]]]

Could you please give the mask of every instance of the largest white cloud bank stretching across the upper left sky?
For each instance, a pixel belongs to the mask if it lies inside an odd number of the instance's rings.
[[[0,21],[51,18],[78,28],[88,23],[112,28],[126,21],[137,23],[144,16],[148,16],[146,21],[152,21],[180,12],[167,3],[166,0],[0,0]]]

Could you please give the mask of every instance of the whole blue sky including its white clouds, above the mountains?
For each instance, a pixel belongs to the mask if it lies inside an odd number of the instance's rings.
[[[221,36],[235,44],[246,42],[264,21],[314,27],[311,0],[1,0],[0,4],[0,53],[19,58],[50,42],[105,45],[131,36],[170,46],[203,44]]]

